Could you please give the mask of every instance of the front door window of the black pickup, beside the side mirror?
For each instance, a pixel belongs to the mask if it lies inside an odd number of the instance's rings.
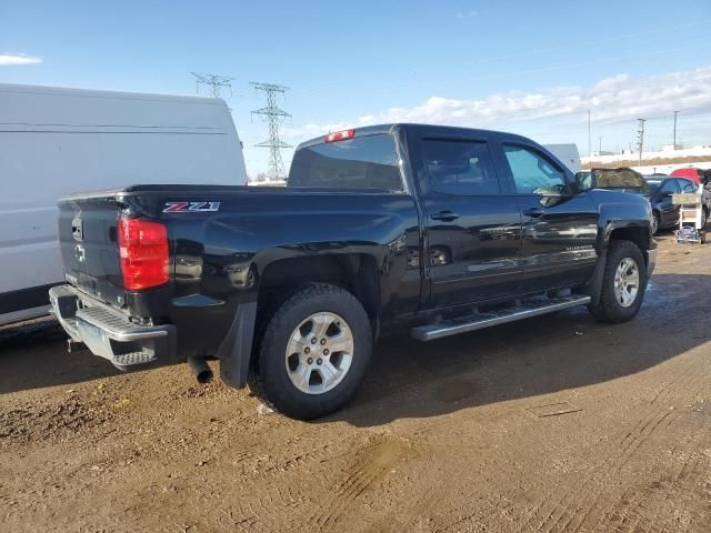
[[[522,147],[504,144],[503,151],[511,168],[517,192],[561,194],[565,191],[565,175],[548,159]]]

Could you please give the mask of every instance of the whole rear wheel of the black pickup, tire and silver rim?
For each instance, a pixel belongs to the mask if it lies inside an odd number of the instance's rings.
[[[323,416],[356,393],[371,349],[370,320],[358,299],[339,286],[308,285],[271,318],[250,389],[288,416]]]

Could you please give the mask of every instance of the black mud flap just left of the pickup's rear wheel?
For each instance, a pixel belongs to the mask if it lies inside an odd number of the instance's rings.
[[[241,303],[217,353],[220,379],[234,389],[242,389],[247,384],[256,316],[257,302]]]

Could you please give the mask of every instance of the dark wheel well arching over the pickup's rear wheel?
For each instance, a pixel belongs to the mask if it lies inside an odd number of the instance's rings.
[[[344,253],[283,259],[267,265],[260,276],[258,320],[266,322],[290,294],[308,283],[341,286],[358,298],[371,320],[378,314],[380,289],[374,258]]]

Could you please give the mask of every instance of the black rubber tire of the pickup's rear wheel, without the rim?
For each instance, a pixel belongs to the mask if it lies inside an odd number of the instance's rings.
[[[309,394],[289,378],[286,358],[291,334],[316,313],[334,313],[347,322],[353,354],[346,374],[333,389]],[[269,320],[248,383],[254,395],[287,416],[299,420],[324,416],[341,409],[358,390],[368,370],[372,344],[370,320],[356,296],[336,285],[306,285],[289,296]]]

